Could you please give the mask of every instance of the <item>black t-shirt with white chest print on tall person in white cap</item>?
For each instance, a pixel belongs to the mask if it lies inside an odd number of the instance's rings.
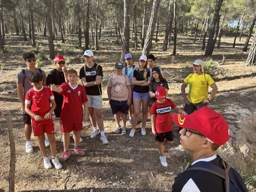
[[[86,73],[86,75],[85,75]],[[82,79],[85,77],[86,82],[91,82],[96,80],[96,76],[102,76],[103,77],[103,72],[102,72],[102,67],[101,65],[98,65],[97,63],[94,63],[94,65],[89,68],[87,65],[82,66],[80,68],[80,73],[79,73],[79,78]],[[88,95],[101,95],[101,84],[100,85],[95,85],[92,87],[85,87],[86,93]]]

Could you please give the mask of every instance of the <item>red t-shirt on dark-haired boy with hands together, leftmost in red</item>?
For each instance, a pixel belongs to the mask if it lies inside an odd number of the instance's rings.
[[[26,93],[25,103],[32,103],[31,112],[44,118],[51,109],[50,99],[54,99],[54,95],[48,87],[42,87],[40,90],[30,88]]]

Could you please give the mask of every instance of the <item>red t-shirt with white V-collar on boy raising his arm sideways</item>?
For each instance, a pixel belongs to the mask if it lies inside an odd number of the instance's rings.
[[[60,119],[62,121],[81,123],[83,121],[83,104],[88,101],[85,88],[79,84],[73,88],[68,83],[63,83],[60,88],[63,90],[59,93],[63,95]]]

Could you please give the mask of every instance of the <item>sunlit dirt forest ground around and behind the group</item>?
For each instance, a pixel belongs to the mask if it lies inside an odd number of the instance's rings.
[[[177,126],[174,129],[174,145],[166,148],[166,157],[168,167],[161,166],[159,154],[154,137],[151,135],[151,127],[146,125],[146,136],[141,136],[140,129],[137,129],[135,137],[130,138],[129,134],[121,135],[114,133],[115,121],[108,104],[106,84],[108,78],[113,74],[113,66],[119,60],[121,49],[113,45],[113,41],[102,38],[100,41],[100,50],[95,52],[95,60],[103,66],[103,115],[104,127],[107,133],[107,145],[103,145],[96,137],[90,140],[92,131],[90,122],[84,124],[82,131],[84,142],[81,146],[85,149],[84,156],[71,155],[66,162],[63,162],[63,168],[56,170],[54,168],[46,170],[43,167],[43,160],[38,148],[37,139],[32,136],[34,143],[34,153],[26,154],[24,151],[25,141],[23,132],[23,121],[21,115],[21,105],[16,94],[16,74],[24,67],[21,54],[23,51],[29,51],[29,43],[24,43],[20,37],[6,37],[7,52],[1,54],[4,67],[0,70],[0,108],[5,112],[12,114],[13,133],[16,147],[16,171],[15,171],[15,191],[171,191],[174,178],[179,172],[182,172],[191,162],[187,152],[182,151],[179,146],[179,133]],[[46,39],[41,37],[38,45],[39,54],[46,55]],[[113,39],[115,39],[113,37]],[[230,139],[219,149],[220,154],[225,154],[230,160],[230,165],[236,168],[240,165],[233,156],[235,141],[241,145],[247,146],[247,143],[255,146],[255,130],[251,139],[244,140],[243,129],[244,121],[252,118],[255,113],[256,96],[256,68],[245,66],[247,54],[241,52],[242,44],[238,44],[235,49],[232,47],[232,39],[223,38],[221,49],[215,50],[213,60],[225,62],[220,65],[221,68],[213,74],[218,85],[218,94],[210,103],[217,112],[223,113],[230,124]],[[243,40],[243,39],[242,39]],[[161,46],[156,46],[152,53],[157,57],[156,65],[160,65],[163,74],[169,82],[169,97],[178,105],[183,107],[180,86],[182,80],[191,73],[190,63],[195,59],[202,59],[204,52],[201,51],[201,44],[191,43],[192,38],[188,36],[180,37],[177,46],[177,55],[171,56],[171,51],[161,51]],[[74,46],[73,40],[69,40],[65,46],[56,46],[56,53],[60,53],[69,58],[68,68],[74,68],[79,71],[83,66],[80,55],[82,49]],[[26,47],[27,46],[27,47]],[[68,48],[67,48],[68,47]],[[171,50],[171,47],[170,47]],[[138,62],[141,50],[133,51],[133,61]],[[0,61],[1,62],[1,61]],[[48,73],[53,65],[40,66]],[[219,72],[222,71],[221,74]],[[80,81],[79,81],[80,82]],[[75,113],[75,112],[74,112]],[[141,122],[141,121],[140,121]],[[57,155],[62,157],[63,145],[60,142],[62,137],[57,119],[55,123],[55,137],[57,140]],[[141,124],[138,124],[140,128]],[[127,123],[127,128],[131,126]],[[5,119],[0,119],[0,191],[7,191],[9,186],[9,162],[10,145],[8,126]],[[237,133],[237,134],[236,134]],[[240,136],[238,137],[238,133]],[[242,134],[242,136],[241,136]],[[242,142],[242,143],[241,143]],[[73,148],[73,139],[71,139],[70,148]],[[232,149],[231,149],[232,148]],[[246,147],[245,147],[246,148]],[[250,148],[255,158],[255,148]],[[248,152],[247,152],[248,153]],[[50,154],[48,147],[48,154]],[[255,161],[252,159],[252,161]],[[252,168],[254,169],[254,168]],[[250,191],[255,191],[253,188]]]

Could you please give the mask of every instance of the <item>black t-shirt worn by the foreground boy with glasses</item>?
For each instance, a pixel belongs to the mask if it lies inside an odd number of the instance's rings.
[[[220,168],[224,168],[222,166],[222,160],[219,155],[217,157],[210,161],[210,163],[213,163]],[[188,184],[188,180],[190,182],[194,182],[196,185],[191,185]],[[178,192],[182,191],[182,188],[184,185],[187,183],[187,185],[190,185],[190,190],[193,191],[193,187],[199,188],[200,191],[207,191],[207,192],[224,192],[225,187],[224,187],[224,179],[222,179],[219,176],[216,176],[215,174],[207,171],[202,171],[202,170],[190,170],[190,171],[184,171],[175,178],[174,184],[172,185],[172,192]],[[194,190],[196,191],[196,190]]]

